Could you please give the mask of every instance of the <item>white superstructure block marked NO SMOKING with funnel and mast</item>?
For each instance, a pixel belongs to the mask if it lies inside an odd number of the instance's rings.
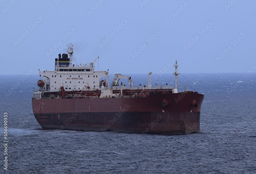
[[[75,90],[94,90],[100,89],[100,79],[108,78],[108,71],[95,71],[93,63],[99,58],[97,57],[90,65],[72,65],[73,45],[68,45],[67,57],[58,57],[55,63],[55,71],[39,71],[44,86],[41,91],[57,92],[63,86],[65,91]],[[65,54],[64,54],[65,55]],[[63,55],[62,55],[63,56]]]

